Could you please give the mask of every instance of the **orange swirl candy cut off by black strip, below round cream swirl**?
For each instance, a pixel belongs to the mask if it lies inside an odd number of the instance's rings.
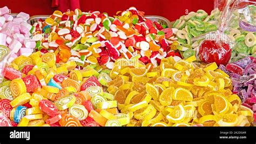
[[[77,120],[75,117],[73,117],[70,114],[65,114],[62,116],[62,119],[59,121],[60,126],[65,127],[81,127],[79,120]]]

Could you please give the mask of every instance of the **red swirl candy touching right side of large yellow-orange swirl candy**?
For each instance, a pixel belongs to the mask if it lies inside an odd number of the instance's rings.
[[[28,92],[28,93],[34,92],[36,90],[36,88],[39,87],[39,83],[38,83],[36,76],[29,75],[29,76],[22,78],[22,80],[24,81],[24,83],[26,85],[26,92]]]

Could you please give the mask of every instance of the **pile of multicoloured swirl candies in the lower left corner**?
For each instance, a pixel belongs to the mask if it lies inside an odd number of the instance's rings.
[[[118,112],[105,92],[111,78],[75,61],[56,64],[53,52],[19,56],[4,68],[0,84],[0,126],[122,126],[129,115]]]

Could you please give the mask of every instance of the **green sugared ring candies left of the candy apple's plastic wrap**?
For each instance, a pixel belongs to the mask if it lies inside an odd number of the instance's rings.
[[[216,31],[217,22],[215,18],[219,16],[219,9],[214,9],[209,16],[204,10],[192,11],[186,16],[181,16],[173,24],[173,28],[176,29],[174,33],[179,43],[172,45],[171,48],[180,50],[181,55],[185,59],[194,56],[196,51],[198,51],[200,41],[192,42],[192,38],[203,35],[204,33]]]

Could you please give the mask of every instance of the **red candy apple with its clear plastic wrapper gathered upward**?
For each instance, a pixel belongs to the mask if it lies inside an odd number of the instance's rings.
[[[220,5],[221,2],[221,5]],[[230,28],[235,0],[215,1],[215,8],[223,10],[220,17],[216,17],[218,30],[207,33],[196,39],[203,39],[199,44],[199,58],[205,63],[215,62],[217,65],[226,65],[231,58],[232,47],[235,45],[233,39],[225,35],[225,31]]]

